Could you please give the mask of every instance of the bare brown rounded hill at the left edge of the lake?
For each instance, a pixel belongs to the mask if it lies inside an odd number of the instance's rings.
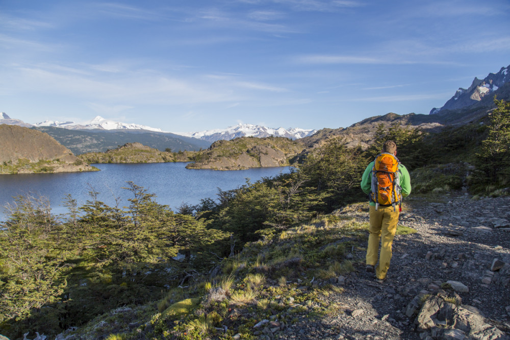
[[[78,164],[72,152],[46,133],[16,126],[0,125],[0,173],[91,171]]]

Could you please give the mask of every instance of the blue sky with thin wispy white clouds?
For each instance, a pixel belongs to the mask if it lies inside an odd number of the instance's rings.
[[[347,127],[509,64],[507,0],[0,0],[0,111],[32,124]]]

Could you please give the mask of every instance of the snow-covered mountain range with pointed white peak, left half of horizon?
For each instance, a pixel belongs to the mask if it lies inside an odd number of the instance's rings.
[[[46,120],[45,122],[34,124],[34,126],[37,126],[37,127],[53,126],[53,127],[57,127],[57,128],[65,128],[65,129],[70,129],[70,130],[93,130],[93,129],[99,129],[99,130],[148,130],[148,131],[155,131],[155,132],[164,132],[161,129],[151,128],[151,127],[145,126],[145,125],[114,122],[113,120],[108,120],[101,116],[96,116],[94,119],[88,120],[87,122],[84,122],[81,124],[74,123],[74,122],[57,122],[55,120]]]

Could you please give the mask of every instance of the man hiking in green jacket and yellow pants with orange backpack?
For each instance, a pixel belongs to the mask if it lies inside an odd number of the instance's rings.
[[[361,180],[362,190],[370,197],[370,235],[367,247],[367,272],[374,273],[379,282],[386,280],[390,268],[391,245],[397,231],[402,198],[411,193],[409,172],[398,161],[397,144],[387,140],[382,151],[368,164]],[[381,239],[379,265],[377,255]]]

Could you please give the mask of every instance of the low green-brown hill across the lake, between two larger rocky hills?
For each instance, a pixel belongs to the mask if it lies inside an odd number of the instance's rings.
[[[184,153],[159,151],[141,143],[125,143],[117,149],[91,152],[78,157],[87,163],[164,163],[188,160]]]

